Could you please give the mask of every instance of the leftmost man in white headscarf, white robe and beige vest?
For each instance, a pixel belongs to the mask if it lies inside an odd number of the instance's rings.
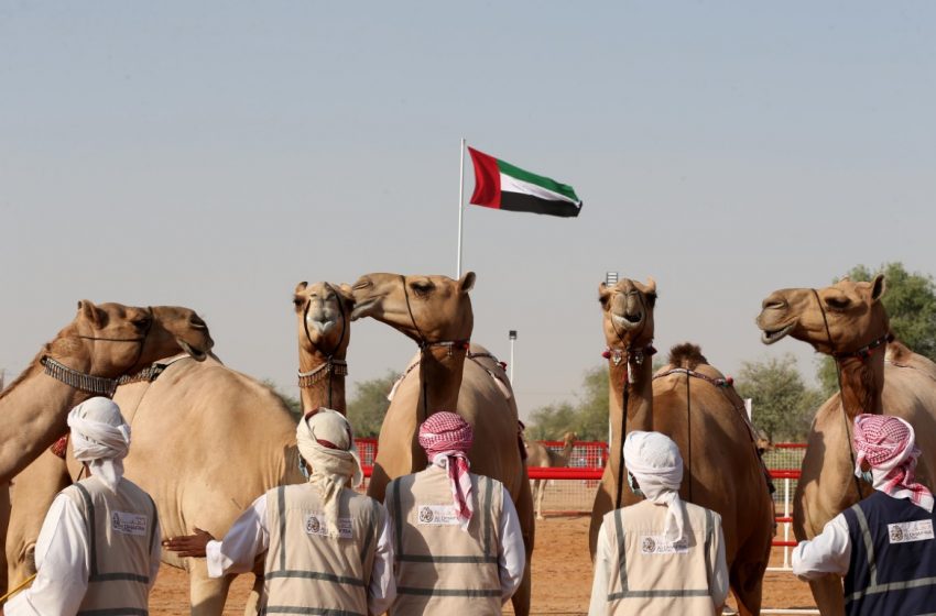
[[[72,409],[68,426],[75,459],[90,476],[52,502],[35,546],[35,581],[7,603],[8,616],[144,609],[156,581],[159,520],[149,495],[123,477],[130,426],[120,408],[90,398]],[[133,580],[108,581],[113,573]]]

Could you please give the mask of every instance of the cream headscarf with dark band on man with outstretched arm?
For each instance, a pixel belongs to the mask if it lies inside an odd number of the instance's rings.
[[[308,481],[318,487],[327,532],[338,537],[341,490],[349,483],[357,487],[363,482],[351,425],[337,410],[319,408],[300,420],[296,442],[303,459],[312,465]]]

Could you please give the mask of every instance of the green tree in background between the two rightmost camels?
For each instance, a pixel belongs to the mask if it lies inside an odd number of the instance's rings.
[[[736,388],[742,398],[751,398],[754,426],[773,442],[804,439],[824,399],[803,382],[792,354],[743,362]]]

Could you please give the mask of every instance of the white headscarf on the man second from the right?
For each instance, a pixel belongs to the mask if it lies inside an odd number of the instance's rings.
[[[634,431],[624,439],[624,464],[647,501],[666,505],[667,541],[685,537],[686,513],[679,498],[683,457],[673,440],[660,432]]]

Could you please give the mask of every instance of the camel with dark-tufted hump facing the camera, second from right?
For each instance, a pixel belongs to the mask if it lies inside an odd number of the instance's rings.
[[[679,495],[721,515],[729,582],[739,612],[759,614],[774,510],[743,402],[693,344],[674,346],[668,364],[651,376],[656,302],[652,279],[645,285],[630,279],[614,287],[601,285],[599,297],[609,346],[612,443],[592,510],[592,556],[603,515],[640,499],[622,481],[621,505],[617,504],[618,473],[624,476],[620,435],[662,432],[676,442],[686,464]],[[623,422],[625,385],[629,404]]]

